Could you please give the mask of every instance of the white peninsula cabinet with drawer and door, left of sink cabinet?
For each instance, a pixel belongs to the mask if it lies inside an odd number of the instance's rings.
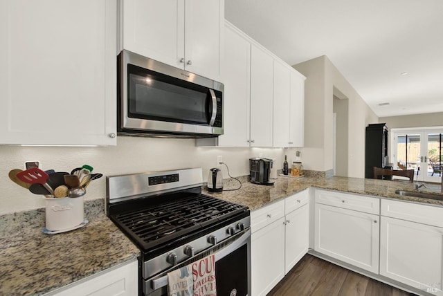
[[[378,273],[379,214],[352,210],[362,208],[379,211],[379,198],[316,190],[314,249]]]

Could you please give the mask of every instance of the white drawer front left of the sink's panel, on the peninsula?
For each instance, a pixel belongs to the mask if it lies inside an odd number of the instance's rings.
[[[342,207],[344,209],[370,214],[380,213],[379,198],[369,196],[327,190],[316,190],[316,203],[333,205],[334,207]]]

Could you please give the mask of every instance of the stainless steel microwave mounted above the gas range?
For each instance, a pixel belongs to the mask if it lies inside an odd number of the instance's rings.
[[[210,138],[223,134],[224,85],[128,50],[118,55],[118,133]]]

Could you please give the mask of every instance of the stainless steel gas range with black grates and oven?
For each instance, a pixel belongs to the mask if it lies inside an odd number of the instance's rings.
[[[107,215],[141,250],[141,295],[168,295],[168,272],[212,254],[217,295],[251,295],[248,207],[201,185],[201,168],[107,177]]]

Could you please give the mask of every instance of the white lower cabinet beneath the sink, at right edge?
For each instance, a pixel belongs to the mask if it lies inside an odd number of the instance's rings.
[[[381,215],[380,275],[443,295],[443,209],[382,200]]]

